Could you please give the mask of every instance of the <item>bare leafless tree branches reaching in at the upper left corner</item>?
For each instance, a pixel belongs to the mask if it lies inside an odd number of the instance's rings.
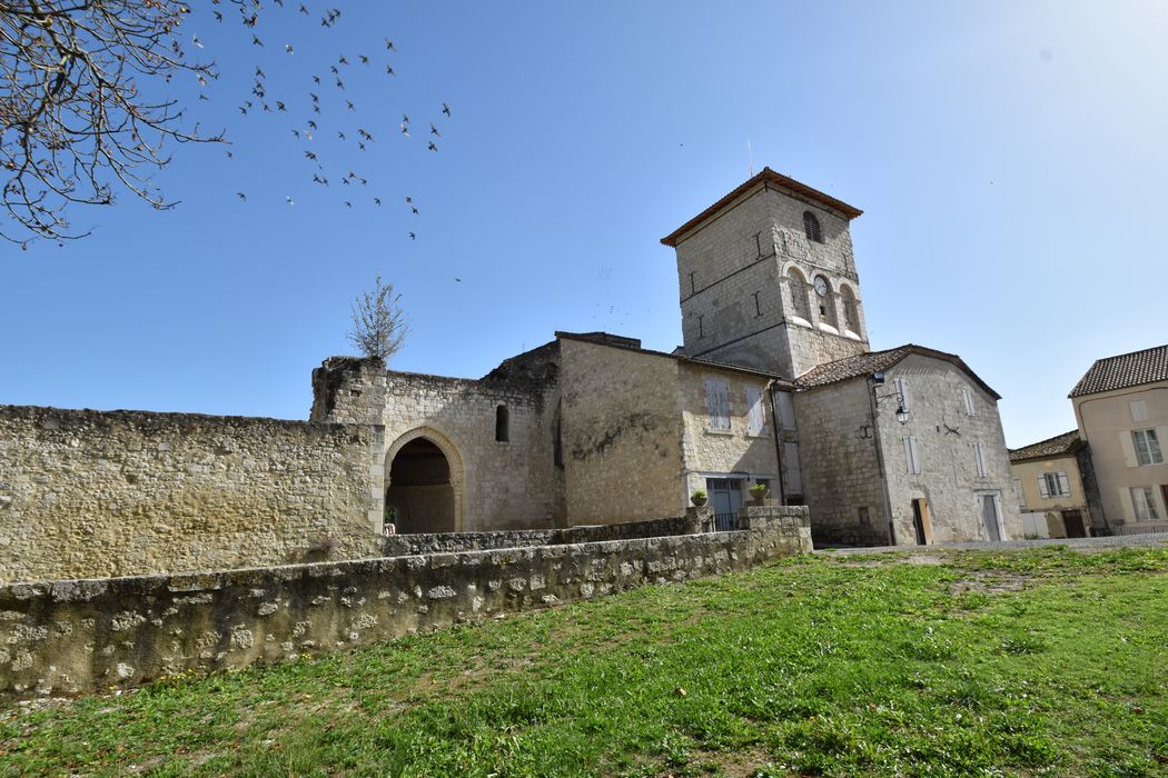
[[[84,237],[67,209],[110,205],[119,189],[174,206],[150,178],[166,141],[222,140],[185,131],[162,96],[178,75],[216,76],[180,44],[187,13],[175,0],[0,0],[0,237]]]

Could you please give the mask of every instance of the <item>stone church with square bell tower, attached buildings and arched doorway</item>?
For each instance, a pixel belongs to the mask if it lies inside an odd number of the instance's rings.
[[[818,542],[1021,538],[1000,397],[955,355],[869,348],[860,215],[764,169],[662,239],[672,353],[556,332],[480,379],[334,357],[311,420],[383,426],[370,467],[398,532],[676,516],[697,489],[728,527],[762,483],[811,507]]]

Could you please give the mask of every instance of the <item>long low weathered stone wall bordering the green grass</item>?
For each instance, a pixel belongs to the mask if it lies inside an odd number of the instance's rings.
[[[0,587],[0,694],[130,687],[349,649],[811,551],[806,509],[744,530]]]

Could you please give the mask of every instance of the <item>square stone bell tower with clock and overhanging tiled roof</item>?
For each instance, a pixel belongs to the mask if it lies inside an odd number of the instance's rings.
[[[795,378],[869,351],[848,231],[861,213],[764,168],[662,238],[686,355]]]

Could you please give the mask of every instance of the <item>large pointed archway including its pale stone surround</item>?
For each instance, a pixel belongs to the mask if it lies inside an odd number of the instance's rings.
[[[402,435],[385,454],[385,484],[398,533],[463,531],[463,463],[444,436]]]

